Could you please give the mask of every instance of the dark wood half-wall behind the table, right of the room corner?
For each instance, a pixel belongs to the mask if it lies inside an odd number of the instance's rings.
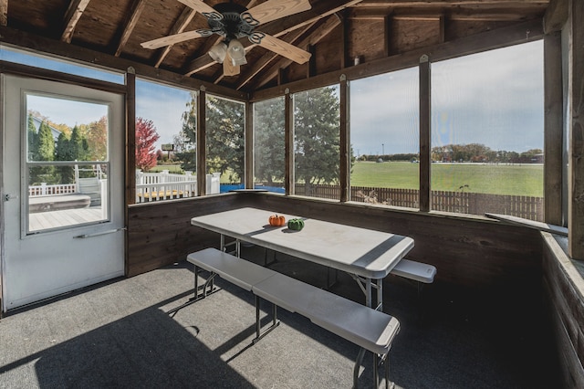
[[[413,237],[408,258],[438,269],[436,288],[472,307],[532,312],[541,301],[541,237],[536,230],[482,218],[401,212],[298,197],[241,194],[256,207]],[[479,303],[480,300],[480,303]],[[498,309],[498,308],[497,308]]]

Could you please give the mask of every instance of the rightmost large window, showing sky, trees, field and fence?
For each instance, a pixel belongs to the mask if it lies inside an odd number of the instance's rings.
[[[432,208],[543,219],[543,41],[432,65]]]

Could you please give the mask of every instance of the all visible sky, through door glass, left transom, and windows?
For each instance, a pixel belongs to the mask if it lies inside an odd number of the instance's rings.
[[[123,75],[0,51],[0,58],[123,83]],[[543,148],[543,41],[434,62],[432,145],[483,143],[493,150]],[[351,145],[357,155],[418,152],[418,68],[350,82]],[[136,114],[151,120],[157,146],[182,128],[188,90],[137,80]],[[41,113],[51,121],[87,123],[83,109]]]

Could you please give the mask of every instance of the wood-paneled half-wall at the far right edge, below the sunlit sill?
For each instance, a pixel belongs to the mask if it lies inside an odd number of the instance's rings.
[[[562,387],[584,387],[584,266],[574,263],[550,234],[542,234],[543,284]],[[577,268],[579,266],[579,268]],[[576,284],[579,283],[579,285]]]

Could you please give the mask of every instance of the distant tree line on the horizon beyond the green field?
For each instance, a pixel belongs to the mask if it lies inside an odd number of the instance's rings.
[[[385,155],[360,156],[361,161],[417,161],[418,153],[397,153]],[[531,149],[527,152],[508,152],[505,150],[492,150],[481,143],[447,144],[433,147],[432,161],[458,162],[458,163],[543,163],[543,151]]]

